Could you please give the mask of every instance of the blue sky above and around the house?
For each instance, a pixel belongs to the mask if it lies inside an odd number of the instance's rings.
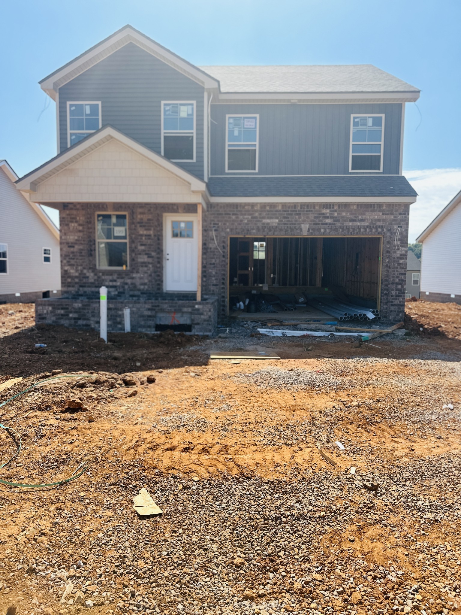
[[[459,0],[15,0],[1,15],[0,159],[18,175],[56,154],[37,81],[126,23],[197,65],[379,66],[422,90],[404,169],[461,169]]]

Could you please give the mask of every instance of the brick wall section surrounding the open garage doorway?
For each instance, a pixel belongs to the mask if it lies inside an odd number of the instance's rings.
[[[218,295],[226,313],[228,237],[382,235],[380,312],[403,320],[408,250],[408,204],[211,204],[203,215],[203,292]],[[307,227],[307,232],[303,232]],[[395,234],[401,226],[400,247]],[[213,237],[215,229],[216,243]]]

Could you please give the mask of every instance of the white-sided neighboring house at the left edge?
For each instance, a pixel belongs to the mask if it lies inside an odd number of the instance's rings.
[[[57,296],[61,288],[59,231],[14,185],[0,161],[0,303]]]

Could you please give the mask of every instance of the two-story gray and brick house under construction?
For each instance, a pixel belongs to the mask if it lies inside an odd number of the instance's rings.
[[[371,65],[194,66],[125,26],[41,82],[58,154],[17,181],[60,210],[37,321],[208,333],[245,299],[339,292],[404,311],[404,108]],[[175,317],[171,315],[175,313]],[[178,324],[179,323],[179,324]]]

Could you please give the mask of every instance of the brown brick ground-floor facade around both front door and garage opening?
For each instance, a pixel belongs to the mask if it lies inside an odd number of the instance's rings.
[[[108,211],[128,213],[129,267],[126,271],[96,268],[95,214]],[[171,293],[165,295],[163,291],[163,214],[196,211],[196,205],[64,204],[62,295],[74,301],[95,300],[99,288],[105,285],[109,301],[190,299],[187,295],[173,298]],[[383,320],[402,320],[408,216],[408,204],[209,204],[203,212],[202,293],[218,297],[218,320],[222,321],[227,310],[229,236],[379,235],[384,238],[380,311]],[[401,226],[400,247],[395,245],[398,226]],[[63,306],[62,300],[60,305]],[[73,319],[69,314],[66,318]],[[50,322],[49,314],[46,319]],[[63,319],[64,315],[60,322]]]

